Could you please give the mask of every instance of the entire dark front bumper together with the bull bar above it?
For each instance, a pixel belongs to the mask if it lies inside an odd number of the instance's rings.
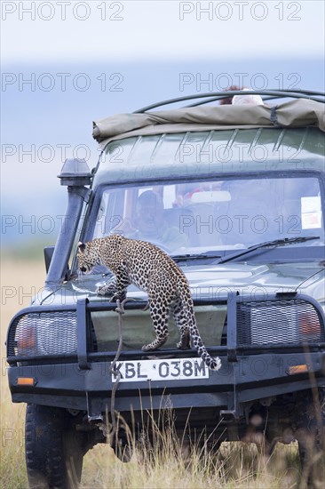
[[[267,301],[264,297],[256,297],[252,301],[251,298],[230,293],[223,301],[227,308],[226,345],[209,348],[210,355],[221,358],[221,369],[218,372],[209,371],[208,376],[200,379],[165,381],[131,379],[116,382],[111,372],[115,351],[89,352],[87,314],[94,308],[115,309],[115,304],[103,301],[94,305],[83,298],[75,305],[65,306],[65,311],[75,314],[75,323],[72,323],[71,316],[68,317],[70,325],[75,325],[75,333],[71,337],[72,346],[68,348],[75,351],[56,357],[17,355],[19,349],[15,346],[15,328],[19,325],[20,317],[24,315],[42,316],[63,308],[24,309],[12,319],[8,333],[8,379],[12,401],[82,410],[88,413],[90,419],[102,417],[103,413],[112,408],[126,413],[156,410],[166,406],[175,409],[214,408],[221,415],[229,414],[239,418],[245,405],[255,401],[325,386],[325,318],[317,301],[295,293],[285,296],[276,294]],[[195,301],[194,304],[213,302],[221,301],[204,299]],[[265,336],[258,331],[258,320],[261,315],[264,317],[266,308],[270,308],[270,317],[274,323],[266,332],[266,338],[267,334],[272,333],[273,327],[284,338],[287,333],[282,331],[285,330],[285,325],[279,325],[280,319],[285,319],[287,315],[288,321],[291,321],[295,316],[293,311],[296,305],[303,305],[304,314],[312,318],[312,323],[317,319],[317,333],[312,330],[313,337],[305,337],[309,342],[304,341],[303,336],[297,336],[300,334],[298,330],[288,343],[279,341],[278,337],[273,344],[265,341]],[[277,312],[274,315],[277,306],[286,311],[284,316],[281,313],[280,319]],[[127,304],[126,309],[128,308],[142,309],[143,302]],[[247,334],[248,328],[250,334]],[[46,329],[43,331],[46,332]],[[146,362],[153,357],[153,353],[157,361],[164,358],[197,358],[194,350],[162,349],[147,353],[141,350],[122,352],[118,360]],[[24,378],[32,379],[31,385],[20,381]]]

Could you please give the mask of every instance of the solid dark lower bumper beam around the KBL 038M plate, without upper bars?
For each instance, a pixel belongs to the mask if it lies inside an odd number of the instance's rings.
[[[123,357],[121,358],[123,359]],[[115,392],[119,412],[163,407],[213,407],[238,418],[247,403],[289,392],[325,386],[325,352],[266,353],[240,356],[208,379],[121,382]],[[307,365],[305,373],[290,373],[295,365]],[[87,411],[89,418],[111,409],[116,382],[111,362],[91,362],[81,370],[76,363],[20,365],[8,369],[13,402],[55,405]],[[34,378],[33,386],[21,386],[20,378]]]

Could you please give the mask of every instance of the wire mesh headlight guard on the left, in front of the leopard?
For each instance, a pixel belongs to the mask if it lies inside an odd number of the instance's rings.
[[[76,351],[75,311],[28,313],[12,323],[8,357],[71,355]]]

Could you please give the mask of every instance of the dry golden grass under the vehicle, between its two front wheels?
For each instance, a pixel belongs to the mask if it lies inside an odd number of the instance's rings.
[[[279,445],[267,459],[255,445],[224,443],[218,455],[193,448],[185,458],[168,432],[164,449],[154,455],[140,447],[124,463],[104,445],[97,445],[84,461],[82,488],[100,489],[284,489],[297,487],[299,469],[296,445]],[[176,445],[176,446],[175,446]]]

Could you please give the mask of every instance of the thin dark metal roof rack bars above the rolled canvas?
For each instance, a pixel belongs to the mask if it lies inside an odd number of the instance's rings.
[[[232,90],[225,92],[210,92],[210,93],[200,93],[194,95],[186,95],[184,97],[178,97],[176,99],[163,100],[161,102],[156,102],[154,104],[148,105],[144,108],[139,108],[135,110],[133,114],[143,114],[147,112],[147,110],[152,110],[153,108],[163,107],[164,105],[170,105],[178,102],[183,102],[186,100],[195,100],[195,99],[206,99],[195,101],[190,105],[185,105],[183,107],[196,107],[198,105],[204,105],[210,102],[214,102],[216,100],[227,99],[228,97],[232,97],[233,95],[261,95],[263,100],[274,100],[274,99],[283,99],[283,98],[291,98],[291,99],[310,99],[315,100],[316,102],[325,103],[325,92],[313,92],[310,90],[245,90],[244,93],[242,90]]]

